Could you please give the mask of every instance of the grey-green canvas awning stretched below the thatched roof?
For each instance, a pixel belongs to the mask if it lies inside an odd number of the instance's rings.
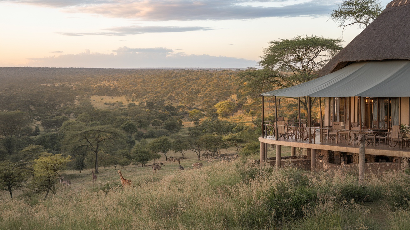
[[[283,97],[408,97],[410,96],[410,61],[356,62],[309,82],[262,93],[261,95]]]

